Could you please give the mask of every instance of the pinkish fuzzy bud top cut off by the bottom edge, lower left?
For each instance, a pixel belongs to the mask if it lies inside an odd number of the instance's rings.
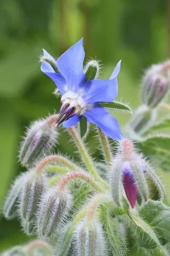
[[[35,240],[25,246],[27,256],[53,256],[53,250],[50,244]]]

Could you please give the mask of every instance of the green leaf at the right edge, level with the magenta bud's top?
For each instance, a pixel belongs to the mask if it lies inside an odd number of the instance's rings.
[[[158,134],[148,136],[137,143],[145,156],[154,161],[162,170],[170,168],[170,135]]]

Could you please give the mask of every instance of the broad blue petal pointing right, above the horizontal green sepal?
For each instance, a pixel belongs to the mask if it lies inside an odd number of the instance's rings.
[[[88,104],[113,101],[118,93],[117,79],[89,80],[83,86],[83,98]]]

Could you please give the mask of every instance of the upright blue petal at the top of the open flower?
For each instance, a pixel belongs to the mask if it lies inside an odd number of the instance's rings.
[[[77,92],[86,82],[83,71],[84,56],[83,39],[81,39],[57,60],[58,70],[67,82],[67,91]]]

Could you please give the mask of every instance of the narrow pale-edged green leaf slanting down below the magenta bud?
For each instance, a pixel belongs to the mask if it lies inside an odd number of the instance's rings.
[[[144,248],[161,248],[154,230],[138,214],[129,211],[129,217],[136,226],[136,239],[139,246]]]

